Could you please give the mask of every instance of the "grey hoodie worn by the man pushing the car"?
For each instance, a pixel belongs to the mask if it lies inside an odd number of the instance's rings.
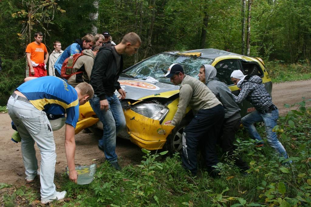
[[[217,71],[212,65],[205,67],[205,84],[214,93],[225,108],[225,121],[230,122],[241,118],[239,106],[235,103],[233,94],[223,82],[214,80]]]

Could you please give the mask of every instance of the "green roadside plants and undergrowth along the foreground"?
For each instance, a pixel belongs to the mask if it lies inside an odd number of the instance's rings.
[[[97,168],[89,185],[68,181],[67,175],[56,178],[59,190],[68,198],[53,206],[310,206],[311,205],[311,109],[305,101],[285,105],[290,110],[279,118],[275,131],[290,158],[280,158],[266,145],[254,147],[247,133],[237,134],[236,153],[249,163],[247,173],[239,172],[232,160],[221,159],[217,165],[220,178],[211,178],[204,171],[202,157],[196,177],[181,166],[180,156],[166,157],[166,152],[150,152],[139,165],[124,166],[115,171],[107,163]],[[264,127],[259,127],[264,133]],[[160,159],[162,158],[162,159]],[[292,161],[292,164],[285,164]],[[122,164],[122,160],[121,160]],[[36,184],[11,187],[0,184],[0,203],[5,206],[39,205],[39,180]],[[9,190],[5,190],[9,189]]]

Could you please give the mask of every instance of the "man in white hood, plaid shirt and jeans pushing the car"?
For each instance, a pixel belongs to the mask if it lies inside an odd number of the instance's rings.
[[[276,133],[272,129],[276,126],[276,120],[279,118],[279,110],[272,103],[272,98],[262,84],[262,79],[258,75],[244,75],[241,70],[234,70],[230,75],[231,81],[241,88],[239,96],[234,96],[234,101],[239,104],[244,99],[254,105],[256,111],[244,116],[242,124],[249,136],[258,140],[257,146],[263,146],[263,141],[258,134],[254,123],[264,122],[267,135],[267,141],[280,156],[285,159],[288,155],[284,146],[277,139]]]

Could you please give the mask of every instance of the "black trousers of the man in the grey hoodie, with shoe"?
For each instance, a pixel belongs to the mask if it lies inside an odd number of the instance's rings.
[[[235,133],[239,130],[240,124],[241,119],[236,119],[230,122],[224,120],[222,124],[222,132],[218,139],[218,144],[222,148],[222,152],[226,153],[230,157],[232,157],[234,154],[233,151],[236,149],[233,142],[235,141]],[[238,155],[234,156],[234,164],[243,170],[247,170],[249,168],[248,164]]]

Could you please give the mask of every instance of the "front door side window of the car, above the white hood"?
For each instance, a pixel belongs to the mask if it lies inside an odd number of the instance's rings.
[[[217,70],[216,78],[227,85],[232,85],[230,75],[234,70],[240,70],[237,60],[224,60],[215,65]]]

